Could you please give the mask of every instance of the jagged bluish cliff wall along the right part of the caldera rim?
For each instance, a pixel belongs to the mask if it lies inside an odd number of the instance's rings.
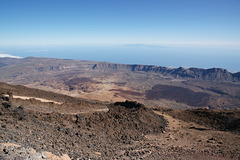
[[[200,79],[209,81],[240,81],[240,72],[230,73],[226,69],[211,68],[167,68],[152,65],[124,65],[112,63],[98,63],[92,69],[94,70],[128,70],[128,71],[142,71],[142,72],[155,72],[165,76],[173,76],[174,78],[183,79]]]

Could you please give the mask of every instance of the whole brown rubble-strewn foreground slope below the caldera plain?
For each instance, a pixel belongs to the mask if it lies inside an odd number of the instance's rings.
[[[72,99],[72,102],[68,102],[72,109],[66,112],[61,105],[52,102],[14,98],[14,94],[21,94],[19,86],[7,85],[2,88],[0,159],[27,159],[34,156],[38,156],[36,159],[50,159],[47,157],[49,155],[59,159],[240,158],[239,126],[232,132],[223,131],[209,126],[214,119],[208,123],[207,117],[201,116],[204,123],[198,124],[198,121],[192,121],[200,118],[197,114],[193,116],[185,111],[159,108],[153,110],[130,101],[103,104]],[[13,95],[7,88],[15,91]],[[57,94],[52,93],[54,96],[48,97],[42,94],[46,91],[29,90],[34,95],[32,97],[60,100]],[[24,89],[23,93],[24,96],[29,94]],[[67,96],[59,96],[69,100]],[[102,107],[99,104],[109,110],[99,111],[98,107]],[[87,109],[89,112],[76,112]],[[208,112],[219,115],[214,111]],[[236,117],[231,120],[239,122],[239,111],[234,111],[234,114]],[[231,114],[225,116],[231,117]]]

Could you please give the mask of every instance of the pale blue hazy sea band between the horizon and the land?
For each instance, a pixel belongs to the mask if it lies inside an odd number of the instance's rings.
[[[224,68],[240,71],[238,49],[144,44],[85,46],[0,46],[0,54],[156,65],[170,68]]]

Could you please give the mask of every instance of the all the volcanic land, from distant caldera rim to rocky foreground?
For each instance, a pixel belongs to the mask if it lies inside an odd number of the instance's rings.
[[[240,159],[239,73],[36,57],[0,64],[0,159]]]

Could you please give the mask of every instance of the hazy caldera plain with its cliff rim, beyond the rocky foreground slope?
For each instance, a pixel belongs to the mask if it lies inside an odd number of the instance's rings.
[[[240,108],[239,73],[28,57],[1,58],[0,81],[72,97],[151,107]],[[166,94],[167,93],[167,94]]]

